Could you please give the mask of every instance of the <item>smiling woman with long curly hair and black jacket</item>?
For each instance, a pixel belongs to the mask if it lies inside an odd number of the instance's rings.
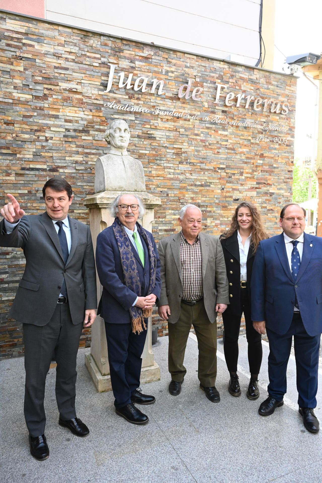
[[[259,397],[258,373],[262,363],[262,336],[256,332],[251,320],[251,277],[254,255],[261,240],[268,238],[263,228],[261,215],[249,201],[241,202],[235,210],[228,231],[220,237],[229,284],[229,302],[223,313],[224,355],[230,379],[228,391],[240,396],[238,383],[238,336],[242,313],[245,317],[248,342],[248,362],[251,380],[246,396]]]

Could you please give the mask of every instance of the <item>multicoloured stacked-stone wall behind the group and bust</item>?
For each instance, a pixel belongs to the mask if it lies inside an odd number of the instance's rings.
[[[162,200],[155,210],[156,240],[178,230],[178,213],[186,203],[203,213],[203,229],[220,235],[230,224],[242,199],[260,207],[266,229],[279,231],[280,207],[292,198],[296,79],[220,60],[171,51],[154,45],[110,37],[45,20],[0,12],[0,147],[2,185],[16,196],[27,213],[42,213],[42,186],[50,177],[63,176],[73,186],[70,214],[89,223],[83,199],[94,192],[98,156],[108,152],[106,126],[113,117],[126,119],[131,130],[128,152],[141,160],[147,190]],[[106,90],[110,66],[115,75],[125,71],[149,78],[148,90]],[[165,81],[166,94],[151,93],[151,79]],[[202,100],[179,99],[180,85],[193,79],[202,87]],[[216,85],[227,91],[289,103],[286,115],[214,103]],[[116,111],[104,104],[197,114],[200,119],[151,113]],[[260,128],[211,123],[207,115],[229,121],[284,126],[277,134]],[[266,134],[263,141],[257,135]],[[282,139],[280,139],[282,141]],[[8,318],[24,270],[20,249],[0,249],[0,356],[23,353],[19,321]],[[50,274],[48,274],[50,276]],[[154,316],[159,334],[166,324]],[[221,330],[222,322],[218,321]],[[90,344],[84,330],[81,346]]]

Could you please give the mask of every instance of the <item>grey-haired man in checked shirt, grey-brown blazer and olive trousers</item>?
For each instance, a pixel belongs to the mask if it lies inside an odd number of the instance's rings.
[[[219,238],[201,233],[202,213],[192,204],[179,215],[182,231],[159,241],[161,295],[158,313],[168,320],[169,393],[181,392],[186,369],[184,352],[191,325],[198,340],[198,379],[211,402],[219,402],[217,313],[227,308],[228,281]]]

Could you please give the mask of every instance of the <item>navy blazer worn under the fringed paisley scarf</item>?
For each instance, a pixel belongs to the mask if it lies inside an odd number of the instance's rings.
[[[147,230],[144,231],[152,241],[156,256],[156,275],[152,293],[156,295],[158,300],[161,292],[160,260],[152,233]],[[150,260],[148,247],[141,236],[140,239],[144,248],[144,268],[131,241],[129,241],[129,245],[137,264],[141,284],[141,297],[144,297],[148,295],[149,289]],[[102,296],[98,304],[98,314],[105,322],[113,324],[127,324],[131,322],[128,309],[135,302],[137,295],[124,284],[121,256],[112,226],[105,228],[97,237],[96,268],[99,281],[103,285]]]

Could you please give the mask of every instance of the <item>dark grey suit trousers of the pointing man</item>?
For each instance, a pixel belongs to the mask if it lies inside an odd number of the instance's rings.
[[[82,321],[83,322],[83,321]],[[57,304],[53,317],[45,326],[23,324],[25,344],[24,412],[31,436],[44,433],[46,416],[43,407],[46,376],[55,353],[56,401],[62,419],[76,417],[76,356],[83,323],[74,325],[68,303]]]

